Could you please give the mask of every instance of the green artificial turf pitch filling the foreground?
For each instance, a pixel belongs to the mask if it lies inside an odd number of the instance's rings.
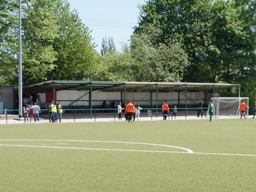
[[[0,125],[0,139],[155,143],[256,154],[254,119]],[[154,145],[0,141],[8,145],[182,151]],[[0,191],[256,191],[256,157],[0,146]]]

